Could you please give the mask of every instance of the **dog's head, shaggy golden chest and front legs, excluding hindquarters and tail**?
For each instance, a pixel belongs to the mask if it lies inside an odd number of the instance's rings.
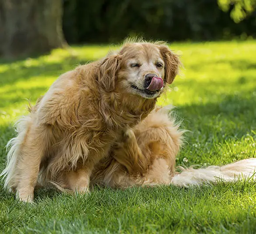
[[[165,44],[127,41],[118,52],[61,75],[18,122],[1,174],[5,187],[28,202],[37,182],[88,192],[95,165],[154,109],[179,64]]]

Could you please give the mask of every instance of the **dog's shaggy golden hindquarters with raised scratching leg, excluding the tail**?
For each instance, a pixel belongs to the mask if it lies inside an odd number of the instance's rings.
[[[126,130],[95,167],[92,185],[114,188],[133,185],[170,184],[175,159],[182,145],[182,133],[168,108],[155,108],[142,122]]]

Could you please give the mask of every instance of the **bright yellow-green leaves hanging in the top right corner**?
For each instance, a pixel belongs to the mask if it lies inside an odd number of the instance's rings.
[[[218,0],[219,7],[227,12],[231,5],[231,18],[239,23],[256,9],[256,0]]]

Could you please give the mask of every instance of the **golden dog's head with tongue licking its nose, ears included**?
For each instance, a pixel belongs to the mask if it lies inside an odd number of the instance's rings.
[[[107,92],[157,98],[179,70],[179,57],[160,43],[126,43],[100,63],[98,82]]]

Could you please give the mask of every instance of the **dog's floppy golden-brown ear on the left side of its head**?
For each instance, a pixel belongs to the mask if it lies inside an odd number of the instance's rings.
[[[99,64],[98,83],[105,91],[111,92],[115,89],[117,73],[120,63],[118,55],[109,55]]]

